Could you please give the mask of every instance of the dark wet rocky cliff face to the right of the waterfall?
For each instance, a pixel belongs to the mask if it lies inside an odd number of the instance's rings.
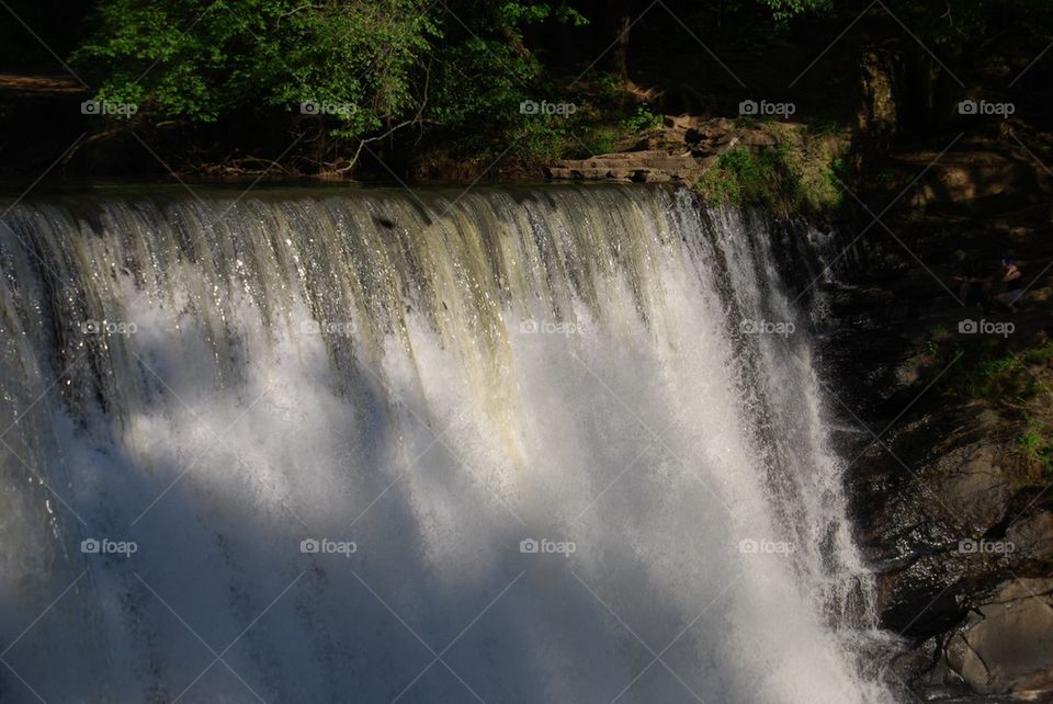
[[[989,404],[943,393],[953,364],[919,373],[920,331],[972,311],[915,274],[880,257],[848,273],[826,344],[859,429],[842,438],[858,540],[904,638],[888,679],[906,701],[1050,702],[1053,489],[1021,479],[1018,430]]]

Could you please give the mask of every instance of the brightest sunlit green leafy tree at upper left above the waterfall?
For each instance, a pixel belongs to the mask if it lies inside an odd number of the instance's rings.
[[[339,134],[358,136],[419,106],[417,57],[440,36],[427,7],[104,0],[73,61],[98,80],[98,98],[156,120],[314,102]]]

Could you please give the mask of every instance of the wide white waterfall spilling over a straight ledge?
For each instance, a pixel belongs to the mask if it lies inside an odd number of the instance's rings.
[[[202,193],[0,204],[0,701],[888,701],[807,228]]]

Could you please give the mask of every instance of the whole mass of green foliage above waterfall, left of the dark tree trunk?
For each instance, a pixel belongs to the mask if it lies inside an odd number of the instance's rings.
[[[526,99],[557,98],[521,29],[586,18],[566,3],[449,4],[100,0],[72,60],[97,99],[135,103],[146,121],[269,114],[349,140],[427,124],[491,141],[525,137],[528,148],[550,152],[559,139],[546,133],[559,129],[519,110]]]

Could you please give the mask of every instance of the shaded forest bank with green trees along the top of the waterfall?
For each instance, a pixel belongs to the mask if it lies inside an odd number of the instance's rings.
[[[794,105],[761,117],[858,128],[868,61],[896,100],[879,141],[924,140],[980,94],[1044,127],[1053,72],[1053,9],[1024,0],[5,8],[0,120],[20,135],[2,147],[9,174],[60,157],[86,174],[401,177],[429,162],[456,178],[501,158],[506,178],[530,175],[631,149],[668,115],[740,116],[743,101]]]

